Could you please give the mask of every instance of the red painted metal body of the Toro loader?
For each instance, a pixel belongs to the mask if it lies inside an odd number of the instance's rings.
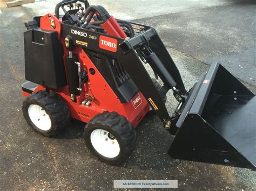
[[[51,23],[52,20],[55,23],[55,29],[52,29]],[[106,31],[112,35],[116,34],[117,37],[126,37],[125,33],[117,33],[117,31],[123,31],[119,25],[112,25],[114,23],[114,18],[111,17],[111,21],[107,21],[103,27],[106,27]],[[60,25],[61,19],[57,19],[53,15],[45,15],[41,17],[41,29],[43,30],[54,30],[58,32],[58,38],[62,42],[64,49],[64,58],[69,55],[68,49],[65,47],[64,39],[61,37],[60,33],[62,31]],[[119,27],[119,30],[116,30],[116,27]],[[117,35],[119,34],[119,35]],[[81,47],[74,47],[73,53],[78,55],[79,62],[81,63],[81,69],[84,69],[88,73],[89,81],[84,83],[82,86],[82,91],[76,96],[77,102],[70,100],[69,87],[65,86],[58,89],[56,92],[66,101],[69,107],[70,116],[72,118],[78,119],[79,121],[88,123],[94,116],[97,114],[102,114],[103,111],[116,111],[118,114],[125,116],[129,122],[132,123],[134,128],[139,124],[143,119],[146,113],[149,111],[149,104],[147,103],[145,97],[142,93],[136,94],[130,102],[121,103],[111,89],[109,84],[106,82],[104,77],[100,74],[98,69],[93,65],[90,58],[86,55],[84,50]],[[65,59],[64,65],[66,66]],[[90,74],[89,68],[93,68],[96,72],[94,75]],[[44,90],[45,88],[39,85],[33,93],[39,90]],[[22,91],[23,96],[28,97],[30,94]],[[89,94],[95,98],[91,102],[90,107],[82,105],[81,102],[85,100],[86,94]]]

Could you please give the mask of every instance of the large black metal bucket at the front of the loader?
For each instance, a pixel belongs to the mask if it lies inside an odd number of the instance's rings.
[[[256,97],[218,62],[195,84],[176,124],[173,158],[256,165]]]

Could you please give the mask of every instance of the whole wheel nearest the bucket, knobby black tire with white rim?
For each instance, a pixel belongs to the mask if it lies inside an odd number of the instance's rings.
[[[108,164],[119,165],[134,150],[136,131],[124,116],[104,111],[86,124],[84,139],[93,155]]]

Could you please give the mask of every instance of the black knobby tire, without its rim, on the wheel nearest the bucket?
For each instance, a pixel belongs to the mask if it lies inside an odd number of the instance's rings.
[[[93,147],[91,134],[95,130],[107,131],[114,136],[120,148],[120,152],[116,157],[106,157]],[[96,115],[86,124],[84,130],[84,139],[87,148],[89,148],[93,155],[110,165],[119,165],[129,158],[135,148],[136,138],[137,134],[132,124],[124,116],[118,115],[117,112],[104,111],[102,114]]]

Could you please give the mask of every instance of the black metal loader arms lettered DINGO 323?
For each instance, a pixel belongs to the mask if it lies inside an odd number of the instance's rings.
[[[136,25],[134,23],[131,24]],[[147,73],[147,70],[143,66],[143,63],[140,60],[138,53],[136,52],[136,49],[144,46],[151,47],[152,51],[155,51],[155,53],[159,55],[160,61],[163,63],[166,72],[173,77],[173,80],[177,84],[177,89],[179,89],[183,94],[186,92],[186,90],[179,70],[173,62],[170,54],[167,52],[163,42],[160,40],[156,30],[146,25],[139,26],[144,27],[145,31],[140,32],[129,40],[125,40],[62,23],[62,37],[65,38],[66,36],[70,36],[73,40],[74,46],[79,46],[85,50],[88,49],[90,51],[103,53],[116,58],[117,61],[125,68],[126,72],[130,75],[131,79],[134,81],[139,90],[142,92],[147,102],[151,105],[151,108],[154,109],[161,121],[166,123],[169,121],[170,115],[165,107],[163,98],[161,97],[157,88],[154,86],[149,73]],[[86,37],[73,34],[72,30],[78,31],[84,34]],[[116,39],[118,42],[117,51],[111,52],[100,48],[100,36]],[[167,91],[171,88],[172,87],[165,88],[165,93],[167,93]]]

